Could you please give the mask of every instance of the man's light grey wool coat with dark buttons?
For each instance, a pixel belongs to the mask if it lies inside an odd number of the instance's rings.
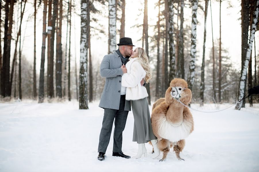
[[[100,75],[105,78],[105,85],[99,107],[119,110],[121,97],[121,76],[123,75],[120,56],[115,51],[105,55],[100,66]],[[124,110],[131,110],[131,102],[125,101]]]

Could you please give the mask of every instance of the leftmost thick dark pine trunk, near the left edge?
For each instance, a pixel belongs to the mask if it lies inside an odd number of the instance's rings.
[[[3,64],[1,67],[1,95],[5,97],[5,70],[6,70],[6,46],[7,46],[7,31],[8,31],[8,15],[9,15],[9,3],[10,0],[5,1],[5,26],[4,26],[4,47],[3,47]]]

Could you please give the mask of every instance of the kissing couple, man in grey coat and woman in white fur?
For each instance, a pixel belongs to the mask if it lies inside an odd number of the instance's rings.
[[[151,79],[148,57],[143,48],[133,50],[131,38],[121,38],[119,49],[105,55],[100,65],[100,75],[105,78],[99,107],[104,109],[102,129],[99,137],[98,160],[105,159],[105,153],[113,128],[112,156],[130,158],[122,150],[122,132],[125,128],[129,111],[134,116],[133,141],[138,143],[138,153],[133,158],[146,157],[145,143],[151,141],[154,154],[160,155],[157,137],[153,134],[148,107],[146,83]]]

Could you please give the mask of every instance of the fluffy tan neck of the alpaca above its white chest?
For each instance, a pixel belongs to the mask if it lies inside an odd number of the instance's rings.
[[[182,124],[183,122],[183,110],[184,110],[184,106],[178,105],[177,101],[174,101],[173,103],[170,104],[167,112],[166,112],[166,119],[178,126],[180,124]]]

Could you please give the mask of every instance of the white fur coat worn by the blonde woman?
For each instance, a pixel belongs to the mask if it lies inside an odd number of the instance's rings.
[[[139,62],[139,58],[129,58],[126,63],[127,73],[121,78],[121,85],[126,88],[126,100],[138,100],[148,97],[146,87],[141,86],[140,81],[145,78],[146,71]]]

